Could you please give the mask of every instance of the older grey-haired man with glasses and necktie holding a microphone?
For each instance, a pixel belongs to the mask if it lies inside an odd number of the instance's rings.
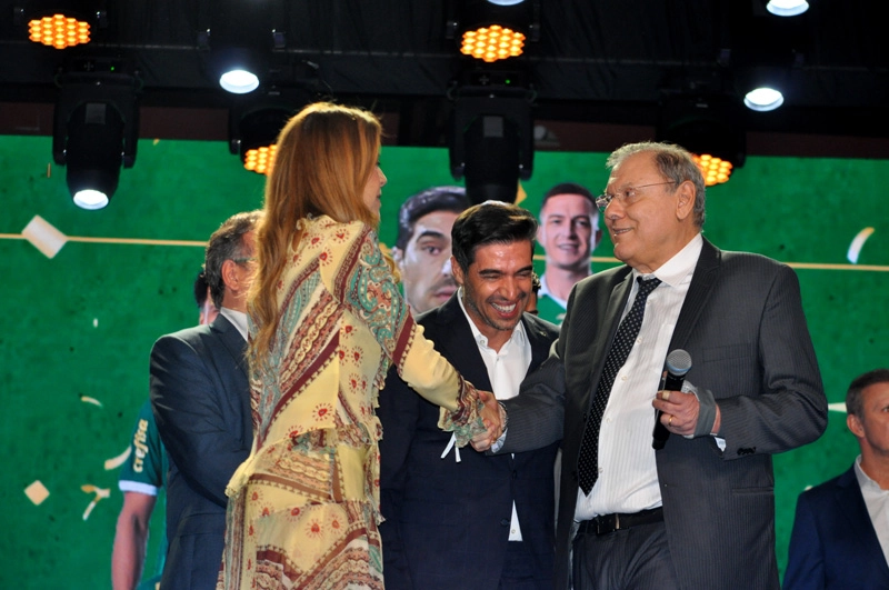
[[[503,402],[495,449],[563,439],[557,589],[569,572],[575,590],[778,588],[771,456],[827,424],[797,276],[702,238],[705,184],[685,149],[628,144],[608,167],[597,204],[626,264],[575,287],[550,358]],[[619,329],[628,311],[637,333]],[[696,391],[658,391],[676,349]],[[655,409],[672,434],[657,451]]]

